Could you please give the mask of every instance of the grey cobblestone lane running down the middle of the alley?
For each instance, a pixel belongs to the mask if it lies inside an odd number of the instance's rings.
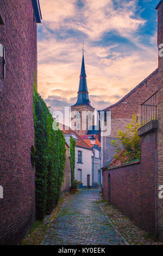
[[[81,190],[64,206],[47,229],[42,245],[124,245],[97,200],[99,190]]]

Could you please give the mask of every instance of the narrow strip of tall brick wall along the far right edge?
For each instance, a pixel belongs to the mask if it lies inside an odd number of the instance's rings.
[[[163,1],[158,6],[158,46],[163,44]],[[163,52],[163,51],[162,51]],[[159,125],[158,125],[158,174],[157,187],[163,185],[163,57],[159,56],[158,68],[158,108],[159,108]],[[158,191],[159,194],[159,191]],[[157,202],[157,219],[158,219],[158,236],[163,240],[163,199],[158,198]]]

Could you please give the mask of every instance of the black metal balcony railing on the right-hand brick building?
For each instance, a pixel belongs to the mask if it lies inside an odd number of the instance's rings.
[[[141,126],[158,119],[157,92],[141,104]]]

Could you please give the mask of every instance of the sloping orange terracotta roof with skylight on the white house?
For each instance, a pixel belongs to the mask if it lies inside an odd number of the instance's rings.
[[[77,139],[78,139],[78,140],[75,140],[77,147],[82,147],[82,148],[86,148],[86,149],[92,150],[91,147],[89,147],[89,145],[76,132],[71,130],[70,127],[68,127],[66,125],[59,124],[59,129],[62,132],[64,132],[65,134],[75,135],[77,137]]]

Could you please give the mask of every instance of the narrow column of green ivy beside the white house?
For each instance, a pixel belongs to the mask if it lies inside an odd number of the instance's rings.
[[[76,156],[75,156],[75,148],[76,148],[76,141],[74,138],[70,138],[70,166],[71,166],[71,187],[73,188],[75,185],[74,179],[74,169],[76,165]]]

